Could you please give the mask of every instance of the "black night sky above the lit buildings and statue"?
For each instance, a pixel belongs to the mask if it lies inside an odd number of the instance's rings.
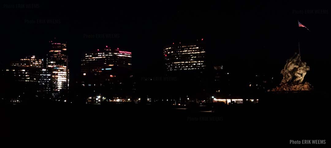
[[[38,4],[38,8],[8,8]],[[108,1],[2,2],[1,65],[24,55],[43,56],[53,37],[66,41],[71,76],[80,71],[84,51],[108,45],[130,51],[141,73],[162,71],[163,47],[204,38],[208,59],[233,71],[280,75],[285,60],[301,44],[303,61],[317,77],[330,63],[328,4],[287,1]],[[298,14],[293,10],[301,10]],[[305,13],[305,10],[324,10]],[[56,23],[26,23],[54,19]],[[299,21],[310,30],[298,27]],[[84,34],[118,34],[118,38],[84,38]],[[306,78],[306,77],[305,77]],[[281,79],[281,78],[280,78]],[[319,81],[316,78],[312,81]]]

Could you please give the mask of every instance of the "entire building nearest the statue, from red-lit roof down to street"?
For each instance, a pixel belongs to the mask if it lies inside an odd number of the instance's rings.
[[[182,98],[205,100],[208,88],[205,48],[203,39],[172,43],[163,48],[166,76],[176,79],[164,83],[168,98],[177,98],[181,103],[184,103]]]

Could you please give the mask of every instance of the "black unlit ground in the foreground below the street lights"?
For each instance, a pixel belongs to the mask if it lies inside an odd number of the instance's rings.
[[[328,95],[303,95],[305,97],[273,94],[256,104],[213,106],[214,112],[206,106],[143,103],[2,105],[0,133],[1,136],[89,139],[171,137],[181,140],[193,136],[256,144],[288,144],[290,139],[328,140]]]

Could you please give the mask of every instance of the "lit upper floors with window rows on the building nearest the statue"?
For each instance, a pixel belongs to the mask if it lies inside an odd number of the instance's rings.
[[[167,71],[205,69],[203,39],[195,43],[172,43],[164,48]]]

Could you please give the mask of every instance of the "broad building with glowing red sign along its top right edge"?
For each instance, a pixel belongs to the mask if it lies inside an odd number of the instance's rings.
[[[131,52],[106,46],[83,54],[80,85],[87,103],[131,98],[132,79]]]

